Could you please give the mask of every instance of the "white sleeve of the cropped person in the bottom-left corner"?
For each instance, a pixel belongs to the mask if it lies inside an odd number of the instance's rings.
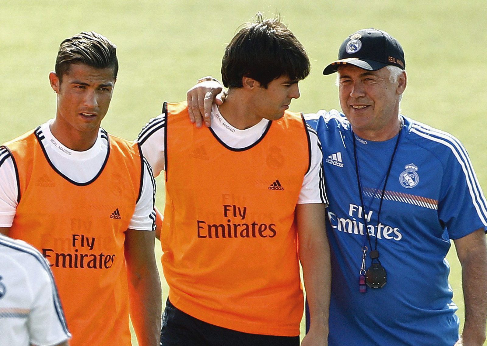
[[[40,255],[40,254],[39,254]],[[39,256],[41,257],[41,256]],[[34,260],[34,259],[33,259]],[[44,260],[39,258],[39,260]],[[30,342],[37,346],[57,345],[71,337],[47,262],[32,275],[32,307],[27,321]]]

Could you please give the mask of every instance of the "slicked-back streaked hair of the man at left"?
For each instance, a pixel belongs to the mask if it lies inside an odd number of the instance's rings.
[[[85,64],[96,69],[113,69],[117,78],[117,47],[105,36],[94,31],[83,31],[61,42],[56,57],[55,72],[59,81],[72,64]]]

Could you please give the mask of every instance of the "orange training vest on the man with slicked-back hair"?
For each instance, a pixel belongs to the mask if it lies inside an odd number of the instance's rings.
[[[138,147],[110,135],[102,172],[77,184],[55,172],[37,136],[31,131],[5,144],[20,185],[9,235],[49,261],[71,346],[131,345],[124,232],[140,193]]]

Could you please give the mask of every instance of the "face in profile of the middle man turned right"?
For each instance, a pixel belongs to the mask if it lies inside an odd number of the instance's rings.
[[[281,76],[271,81],[267,89],[257,87],[253,99],[256,114],[268,120],[281,119],[291,100],[300,97],[298,82]]]

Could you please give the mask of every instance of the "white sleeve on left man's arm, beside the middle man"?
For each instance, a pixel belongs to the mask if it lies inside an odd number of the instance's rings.
[[[140,231],[155,230],[155,180],[146,158],[142,159],[143,174],[142,191],[135,205],[129,228]]]

